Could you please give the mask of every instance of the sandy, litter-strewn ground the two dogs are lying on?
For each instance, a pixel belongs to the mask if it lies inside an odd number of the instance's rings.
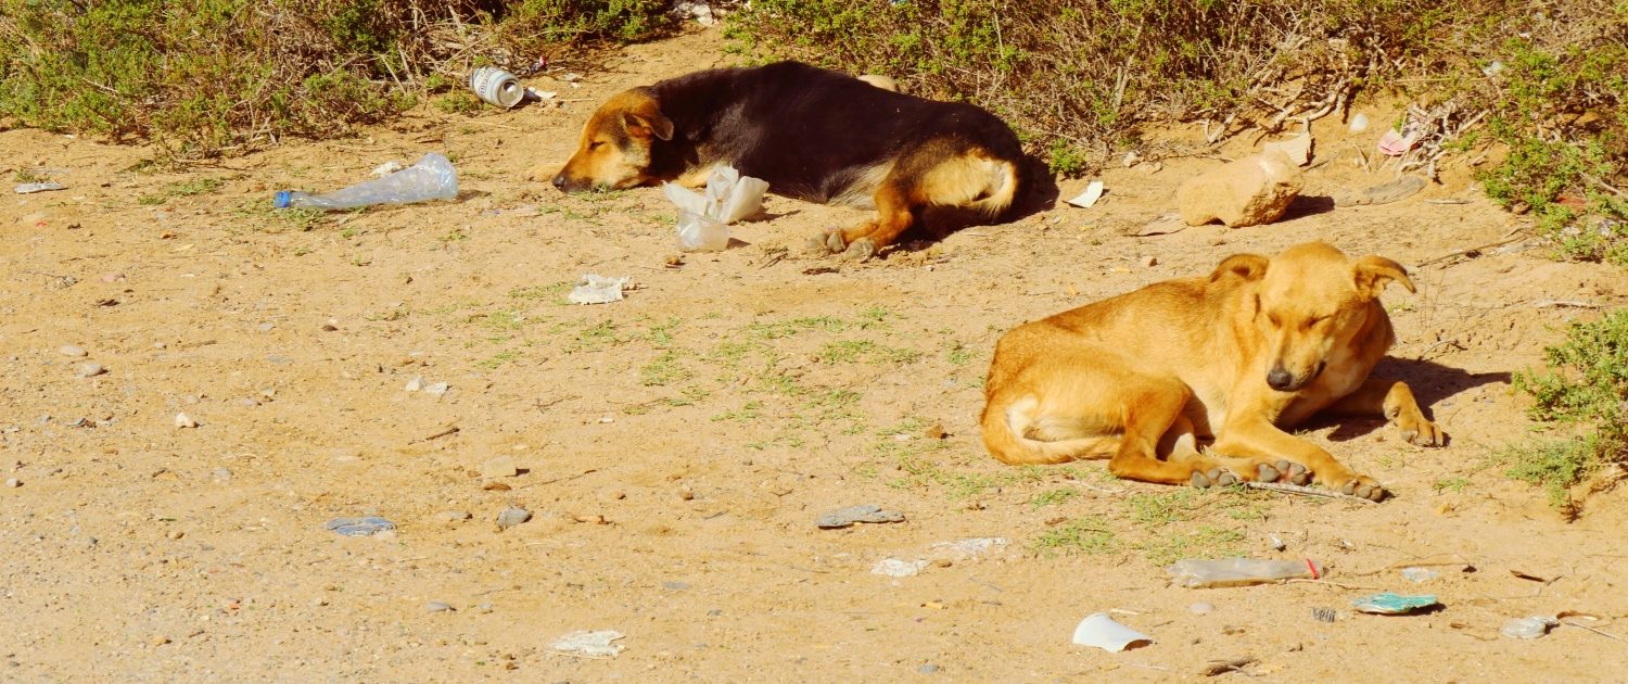
[[[20,484],[0,489],[0,679],[1162,681],[1254,658],[1244,673],[1265,681],[1586,681],[1628,666],[1621,640],[1579,627],[1499,637],[1561,611],[1628,637],[1628,502],[1600,493],[1563,521],[1496,463],[1534,428],[1509,373],[1592,314],[1555,301],[1620,306],[1628,277],[1529,239],[1431,262],[1522,225],[1468,169],[1330,208],[1320,199],[1390,174],[1364,171],[1354,150],[1371,140],[1328,119],[1311,200],[1276,225],[1125,236],[1219,163],[1171,156],[1104,171],[1096,208],[860,265],[801,254],[856,210],[772,197],[731,249],[671,267],[658,189],[562,197],[523,181],[570,155],[597,99],[713,64],[718,37],[685,36],[580,88],[531,80],[565,107],[425,111],[187,173],[142,171],[151,150],[0,132],[0,171],[70,186],[0,207],[0,476]],[[459,200],[269,208],[272,191],[340,187],[431,150],[454,158]],[[1392,500],[1197,492],[983,451],[1003,331],[1307,239],[1398,259],[1420,285],[1387,293],[1400,344],[1382,371],[1452,445],[1413,448],[1376,420],[1304,432]],[[567,305],[588,272],[637,288]],[[409,392],[414,378],[449,391]],[[179,412],[199,427],[177,428]],[[521,472],[484,477],[501,456]],[[858,503],[907,521],[814,526]],[[532,518],[500,531],[508,506]],[[397,529],[324,529],[361,515]],[[1006,544],[933,547],[975,537]],[[1166,580],[1174,559],[1232,554],[1314,559],[1328,581]],[[873,573],[884,559],[928,563]],[[1408,565],[1438,577],[1413,583]],[[1444,607],[1351,611],[1377,590]],[[1092,612],[1153,643],[1071,645]],[[573,630],[622,632],[625,651],[550,648]]]

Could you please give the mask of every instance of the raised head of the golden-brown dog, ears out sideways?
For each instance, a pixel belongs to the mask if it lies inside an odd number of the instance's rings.
[[[1231,256],[1211,275],[1221,278],[1250,283],[1244,313],[1265,337],[1267,384],[1281,392],[1317,379],[1328,353],[1363,329],[1387,283],[1416,292],[1400,264],[1379,256],[1351,261],[1324,243],[1298,244],[1275,259]]]

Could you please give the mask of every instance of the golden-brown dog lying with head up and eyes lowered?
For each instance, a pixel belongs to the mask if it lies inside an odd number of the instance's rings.
[[[1415,292],[1390,259],[1311,243],[1027,322],[995,345],[983,443],[1011,464],[1107,458],[1118,477],[1198,487],[1315,474],[1377,502],[1384,487],[1284,428],[1374,414],[1446,443],[1407,384],[1368,376],[1395,342],[1392,280]]]

